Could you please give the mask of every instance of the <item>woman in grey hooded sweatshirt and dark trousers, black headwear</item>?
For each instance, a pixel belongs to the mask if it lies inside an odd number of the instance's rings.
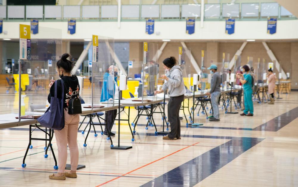
[[[168,118],[171,131],[167,136],[164,136],[162,138],[164,140],[181,139],[179,110],[181,103],[184,100],[186,89],[184,86],[181,67],[176,66],[176,62],[177,61],[173,56],[164,59],[164,61],[162,62],[164,64],[164,69],[168,70],[166,75],[162,75],[165,83],[160,91],[154,92],[154,94],[158,94],[165,92],[168,89],[168,94],[170,96],[170,101],[168,103]]]

